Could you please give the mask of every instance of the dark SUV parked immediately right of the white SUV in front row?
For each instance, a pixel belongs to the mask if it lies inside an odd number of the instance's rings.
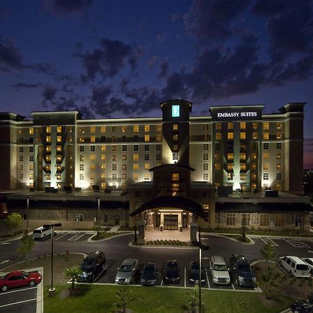
[[[255,274],[243,255],[231,255],[230,277],[241,287],[255,287]]]

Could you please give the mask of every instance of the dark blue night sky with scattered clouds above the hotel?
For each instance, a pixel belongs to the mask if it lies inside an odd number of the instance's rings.
[[[313,1],[0,0],[0,111],[161,116],[159,103],[305,106],[313,168]]]

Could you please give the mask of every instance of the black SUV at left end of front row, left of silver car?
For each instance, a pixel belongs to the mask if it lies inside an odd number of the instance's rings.
[[[102,251],[91,252],[81,264],[81,275],[79,282],[94,282],[95,278],[102,273],[106,265],[106,256]]]

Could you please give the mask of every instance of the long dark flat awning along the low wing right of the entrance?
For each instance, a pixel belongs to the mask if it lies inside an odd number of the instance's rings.
[[[312,211],[313,207],[306,203],[243,203],[238,202],[216,202],[216,212],[239,213],[245,210],[246,213],[273,213],[273,212],[288,212],[288,211]]]

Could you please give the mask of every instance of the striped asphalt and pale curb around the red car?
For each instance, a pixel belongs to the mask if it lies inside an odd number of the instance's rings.
[[[26,272],[38,271],[42,274],[42,268],[31,268]],[[3,273],[1,273],[3,275]],[[34,287],[19,287],[0,292],[1,313],[35,313],[42,312],[42,282]]]

